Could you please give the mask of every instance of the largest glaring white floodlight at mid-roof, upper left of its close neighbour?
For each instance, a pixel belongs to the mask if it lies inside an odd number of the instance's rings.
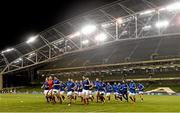
[[[95,32],[95,31],[96,31],[96,26],[95,25],[87,25],[84,28],[82,28],[82,30],[81,30],[81,32],[84,35],[89,35],[89,34]]]

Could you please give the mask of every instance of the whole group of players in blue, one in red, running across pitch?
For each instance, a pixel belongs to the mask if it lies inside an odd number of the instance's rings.
[[[81,102],[84,104],[89,104],[89,100],[94,100],[94,95],[96,96],[96,102],[105,102],[105,96],[108,102],[111,100],[111,94],[114,94],[115,100],[123,100],[123,98],[128,102],[128,98],[135,103],[136,94],[140,95],[141,101],[143,101],[143,90],[144,86],[139,83],[136,87],[136,83],[131,81],[129,84],[122,81],[122,83],[104,83],[96,78],[96,81],[90,81],[87,77],[82,77],[81,81],[73,81],[73,79],[68,79],[66,83],[61,82],[57,77],[52,79],[51,76],[46,78],[42,88],[44,88],[44,95],[47,102],[52,101],[56,103],[65,99],[65,92],[67,92],[67,98],[69,104],[71,105],[72,100],[76,101],[77,97],[81,98]]]

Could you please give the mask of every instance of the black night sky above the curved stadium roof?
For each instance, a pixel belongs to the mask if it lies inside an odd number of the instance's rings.
[[[0,3],[0,50],[29,35],[116,0],[4,0]]]

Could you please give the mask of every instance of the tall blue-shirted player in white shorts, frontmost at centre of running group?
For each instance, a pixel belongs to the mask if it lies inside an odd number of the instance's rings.
[[[89,88],[90,88],[90,81],[88,78],[83,76],[83,100],[84,100],[84,104],[89,104]]]

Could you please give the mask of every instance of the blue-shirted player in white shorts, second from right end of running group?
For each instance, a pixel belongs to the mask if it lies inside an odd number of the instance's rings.
[[[129,83],[129,98],[136,102],[136,84],[133,80]]]

